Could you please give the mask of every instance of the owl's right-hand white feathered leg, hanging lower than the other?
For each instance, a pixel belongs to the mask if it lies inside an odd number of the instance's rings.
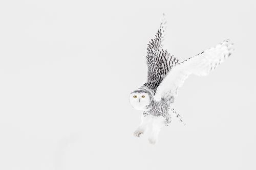
[[[160,117],[155,117],[153,119],[153,123],[152,123],[152,133],[150,135],[150,137],[148,138],[148,141],[151,144],[155,144],[157,142],[158,139],[158,134],[161,130],[161,128],[165,125],[165,118],[160,116]]]

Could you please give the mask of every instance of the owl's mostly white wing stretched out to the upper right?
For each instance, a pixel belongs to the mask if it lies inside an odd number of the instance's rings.
[[[171,96],[177,94],[177,88],[181,87],[190,74],[197,76],[206,76],[211,70],[214,70],[225,59],[227,59],[232,51],[232,45],[229,40],[225,40],[215,47],[191,57],[176,66],[165,77],[158,86],[155,100],[168,100]]]

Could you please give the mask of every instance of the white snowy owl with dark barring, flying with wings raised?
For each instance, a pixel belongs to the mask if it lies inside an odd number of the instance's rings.
[[[172,114],[183,123],[181,116],[173,108],[178,87],[183,85],[190,74],[208,75],[233,51],[233,44],[225,40],[215,47],[179,62],[162,48],[165,28],[166,21],[163,15],[154,39],[147,44],[147,82],[130,94],[132,107],[143,111],[141,124],[134,135],[139,137],[146,131],[148,124],[152,123],[152,132],[148,138],[152,144],[156,143],[160,129],[170,124]]]

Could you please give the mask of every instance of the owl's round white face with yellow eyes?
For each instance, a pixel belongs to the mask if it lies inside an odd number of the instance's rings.
[[[146,92],[132,92],[130,94],[130,103],[136,110],[145,110],[151,103],[151,98]]]

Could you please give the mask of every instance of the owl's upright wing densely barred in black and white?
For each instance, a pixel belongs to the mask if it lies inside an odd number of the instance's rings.
[[[147,82],[146,86],[156,89],[163,78],[167,75],[173,65],[178,63],[178,59],[162,49],[164,34],[166,29],[166,20],[163,14],[163,20],[154,39],[147,44]]]

